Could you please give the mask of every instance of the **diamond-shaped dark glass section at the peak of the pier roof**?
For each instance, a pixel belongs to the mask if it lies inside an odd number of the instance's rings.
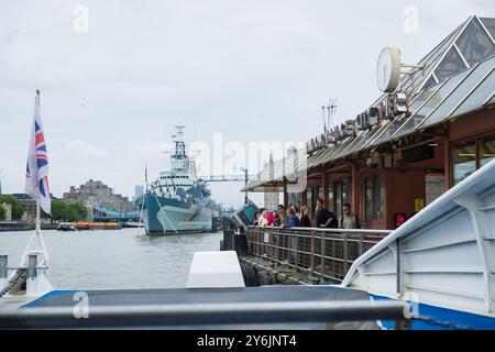
[[[471,66],[495,54],[495,45],[475,19],[461,34],[457,44]]]

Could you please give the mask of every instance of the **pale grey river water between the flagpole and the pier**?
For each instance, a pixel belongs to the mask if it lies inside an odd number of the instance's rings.
[[[18,265],[32,232],[0,232],[0,254]],[[197,251],[218,251],[222,234],[150,238],[143,229],[43,231],[56,289],[185,287]]]

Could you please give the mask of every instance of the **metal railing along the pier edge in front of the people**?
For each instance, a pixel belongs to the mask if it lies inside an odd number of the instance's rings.
[[[250,254],[341,282],[354,260],[389,230],[249,227]]]

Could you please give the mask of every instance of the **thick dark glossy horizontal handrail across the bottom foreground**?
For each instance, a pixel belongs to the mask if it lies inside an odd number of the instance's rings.
[[[134,306],[89,306],[87,319],[74,307],[0,311],[0,329],[124,328],[235,323],[405,321],[406,301],[278,301]]]

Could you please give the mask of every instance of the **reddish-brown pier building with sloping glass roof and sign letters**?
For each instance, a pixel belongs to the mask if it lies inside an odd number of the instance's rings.
[[[242,190],[283,193],[311,211],[322,198],[337,216],[349,202],[365,228],[399,227],[495,157],[494,38],[495,19],[470,16],[399,72],[394,90]]]

